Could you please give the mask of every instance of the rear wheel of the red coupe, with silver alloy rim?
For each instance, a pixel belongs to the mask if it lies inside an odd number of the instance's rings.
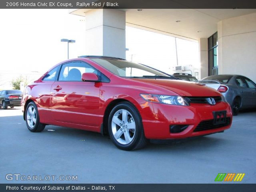
[[[40,123],[37,106],[34,102],[30,102],[26,107],[26,125],[31,132],[41,132],[45,128],[45,124]]]

